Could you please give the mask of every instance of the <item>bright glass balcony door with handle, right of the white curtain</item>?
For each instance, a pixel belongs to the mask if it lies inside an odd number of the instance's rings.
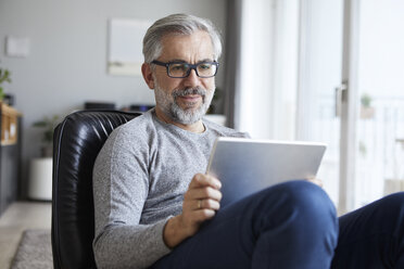
[[[403,190],[404,2],[302,0],[296,139],[343,214]]]

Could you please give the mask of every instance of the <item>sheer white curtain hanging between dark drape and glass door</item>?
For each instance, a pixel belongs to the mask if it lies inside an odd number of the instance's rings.
[[[233,127],[253,138],[293,139],[299,0],[244,0]]]

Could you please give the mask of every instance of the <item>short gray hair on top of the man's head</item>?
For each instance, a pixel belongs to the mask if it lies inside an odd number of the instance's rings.
[[[204,30],[211,36],[214,60],[222,54],[220,35],[213,23],[206,18],[187,14],[173,14],[156,21],[144,35],[144,62],[151,63],[160,57],[163,47],[162,38],[167,34],[191,35],[197,30]]]

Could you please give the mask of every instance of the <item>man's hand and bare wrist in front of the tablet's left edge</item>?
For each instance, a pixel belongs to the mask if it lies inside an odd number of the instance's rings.
[[[182,214],[169,219],[164,228],[164,242],[168,247],[192,236],[201,223],[215,216],[220,207],[220,181],[212,176],[197,174],[184,195]]]

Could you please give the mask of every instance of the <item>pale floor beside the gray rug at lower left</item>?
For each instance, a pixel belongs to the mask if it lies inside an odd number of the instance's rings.
[[[10,268],[26,229],[51,228],[50,202],[15,202],[0,216],[0,268]]]

